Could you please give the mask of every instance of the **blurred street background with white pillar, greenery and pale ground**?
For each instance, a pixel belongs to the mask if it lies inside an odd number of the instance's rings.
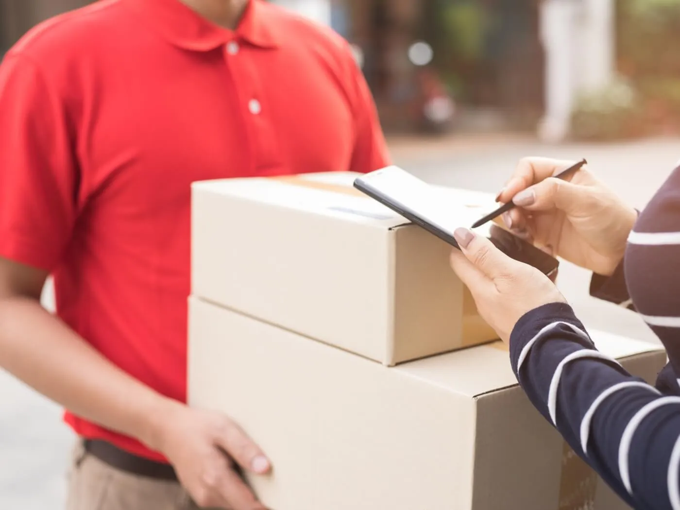
[[[0,55],[79,0],[0,0]],[[396,164],[496,192],[522,156],[582,158],[644,207],[680,158],[680,0],[278,0],[354,46]],[[591,328],[656,341],[633,313],[558,283]],[[46,306],[52,306],[49,289]],[[73,437],[0,371],[0,509],[61,509]],[[27,454],[39,452],[39,454]]]

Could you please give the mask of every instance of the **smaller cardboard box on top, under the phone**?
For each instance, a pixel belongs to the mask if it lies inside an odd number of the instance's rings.
[[[496,339],[451,247],[352,188],[356,175],[194,184],[192,294],[390,366]],[[462,224],[495,207],[439,189]]]

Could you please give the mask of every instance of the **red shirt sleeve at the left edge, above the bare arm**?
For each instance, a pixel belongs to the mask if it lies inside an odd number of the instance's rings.
[[[22,54],[0,65],[0,256],[51,271],[75,222],[65,105]]]

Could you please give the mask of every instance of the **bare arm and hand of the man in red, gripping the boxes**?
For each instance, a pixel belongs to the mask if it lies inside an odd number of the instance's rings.
[[[0,367],[73,413],[162,452],[201,507],[265,510],[233,470],[269,460],[229,418],[190,409],[101,356],[39,299],[47,273],[0,258]]]

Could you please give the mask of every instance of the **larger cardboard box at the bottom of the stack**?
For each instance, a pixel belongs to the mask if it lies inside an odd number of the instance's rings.
[[[666,362],[591,333],[649,381]],[[529,403],[502,343],[389,368],[194,297],[189,401],[271,457],[250,482],[272,510],[625,508]]]

